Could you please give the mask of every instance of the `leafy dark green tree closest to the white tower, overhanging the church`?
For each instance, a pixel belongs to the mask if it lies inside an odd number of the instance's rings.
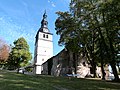
[[[83,1],[84,2],[84,1]],[[82,2],[82,4],[84,4]],[[93,29],[90,30],[90,18],[85,7],[78,2],[71,2],[71,12],[58,12],[58,19],[56,20],[57,34],[60,35],[59,43],[68,47],[73,52],[84,52],[88,56],[89,61],[93,66],[94,77],[96,76],[96,64],[94,60],[94,41],[95,32]],[[79,5],[79,6],[78,6]],[[85,5],[85,4],[84,4]],[[89,4],[91,5],[91,4]],[[88,5],[88,6],[89,6]],[[80,7],[80,8],[79,8]],[[78,10],[80,9],[80,10]],[[79,11],[79,12],[78,12]]]

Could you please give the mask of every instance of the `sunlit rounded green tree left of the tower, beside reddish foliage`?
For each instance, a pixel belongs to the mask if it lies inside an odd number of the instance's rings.
[[[15,40],[12,51],[10,52],[8,64],[18,68],[19,71],[19,68],[26,66],[31,58],[32,55],[29,51],[29,45],[27,44],[26,40],[23,37]]]

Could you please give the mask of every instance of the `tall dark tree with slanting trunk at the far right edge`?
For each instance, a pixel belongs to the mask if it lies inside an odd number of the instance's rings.
[[[106,48],[109,52],[107,52],[109,64],[112,67],[113,74],[115,76],[115,80],[118,81],[119,77],[116,70],[116,61],[115,58],[118,54],[116,53],[116,45],[120,43],[118,32],[120,30],[119,24],[119,16],[120,16],[120,1],[119,0],[106,0],[101,4],[100,13],[102,15],[102,27],[104,28],[106,34]],[[117,39],[117,40],[116,40]],[[118,47],[117,47],[118,48]]]

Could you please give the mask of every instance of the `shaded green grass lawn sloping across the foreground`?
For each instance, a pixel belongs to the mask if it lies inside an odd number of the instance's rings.
[[[0,71],[0,90],[120,90],[120,83]]]

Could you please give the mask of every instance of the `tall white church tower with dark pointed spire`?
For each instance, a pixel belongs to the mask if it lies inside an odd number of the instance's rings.
[[[35,51],[34,51],[34,73],[41,74],[43,71],[42,64],[53,56],[53,34],[48,29],[46,12],[43,14],[41,27],[36,34]]]

